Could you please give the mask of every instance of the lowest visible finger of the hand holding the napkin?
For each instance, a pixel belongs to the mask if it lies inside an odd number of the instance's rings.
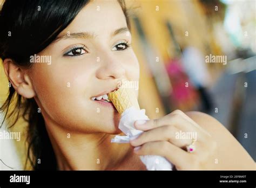
[[[147,142],[141,147],[134,148],[134,152],[137,155],[163,156],[176,166],[191,161],[191,154],[167,141]]]

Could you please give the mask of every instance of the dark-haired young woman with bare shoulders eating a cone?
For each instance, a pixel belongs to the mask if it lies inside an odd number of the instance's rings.
[[[145,170],[139,155],[164,156],[177,170],[255,168],[223,125],[199,112],[136,122],[145,133],[130,144],[110,142],[121,133],[120,115],[92,98],[122,79],[139,80],[124,1],[6,0],[0,24],[0,55],[11,82],[1,110],[17,100],[28,120],[33,169]],[[197,140],[176,139],[179,131],[197,133]],[[187,151],[192,142],[194,152]]]

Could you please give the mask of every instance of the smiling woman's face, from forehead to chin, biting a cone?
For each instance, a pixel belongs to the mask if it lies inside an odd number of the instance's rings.
[[[130,44],[117,1],[87,4],[58,39],[37,54],[50,55],[51,63],[35,63],[29,70],[44,117],[73,131],[120,133],[117,111],[91,98],[111,92],[123,79],[139,80]]]

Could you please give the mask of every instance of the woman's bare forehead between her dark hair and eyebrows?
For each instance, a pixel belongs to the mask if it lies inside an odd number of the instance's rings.
[[[127,27],[124,12],[117,1],[92,1],[87,4],[64,29],[62,34],[86,32],[93,35],[112,33],[114,29]]]

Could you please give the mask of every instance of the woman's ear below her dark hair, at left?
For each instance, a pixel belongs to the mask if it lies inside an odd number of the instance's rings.
[[[33,89],[31,79],[12,59],[4,59],[4,72],[8,76],[12,87],[24,98],[33,98],[36,93]]]

